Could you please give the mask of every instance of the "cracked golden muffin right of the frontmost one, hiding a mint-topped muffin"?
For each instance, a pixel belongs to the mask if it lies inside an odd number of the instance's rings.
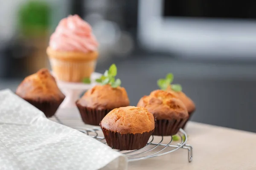
[[[175,135],[189,118],[186,106],[177,95],[163,90],[143,96],[137,107],[146,108],[154,115],[156,127],[153,135],[157,136]]]

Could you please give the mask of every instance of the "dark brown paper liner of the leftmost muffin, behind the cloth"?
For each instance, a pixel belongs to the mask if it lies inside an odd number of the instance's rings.
[[[31,105],[38,108],[40,111],[44,112],[46,117],[52,117],[56,111],[58,110],[58,107],[61,105],[64,99],[61,99],[60,101],[33,101],[33,100],[27,100]]]

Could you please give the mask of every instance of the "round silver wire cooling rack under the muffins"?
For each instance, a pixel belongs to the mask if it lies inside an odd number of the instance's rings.
[[[55,119],[58,123],[63,124],[57,116]],[[102,130],[100,128],[82,128],[77,129],[80,132],[87,134],[88,136],[99,140],[100,142],[107,144],[105,138],[102,135]],[[187,135],[186,132],[180,128],[179,132],[176,135],[179,139],[175,139],[172,136],[161,136],[154,137],[153,135],[148,140],[148,144],[142,149],[138,150],[116,150],[125,156],[128,157],[128,161],[138,161],[142,159],[153,158],[156,156],[163,156],[172,152],[175,152],[178,149],[188,150],[188,161],[191,162],[193,159],[193,148],[191,145],[186,144]],[[176,137],[176,138],[177,138]],[[165,141],[163,143],[163,141]],[[167,142],[166,142],[167,141]],[[176,142],[176,143],[175,143]],[[174,144],[175,143],[175,144]]]

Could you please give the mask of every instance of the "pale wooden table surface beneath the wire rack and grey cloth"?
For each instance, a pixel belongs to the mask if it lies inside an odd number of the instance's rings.
[[[61,109],[56,115],[67,126],[87,127],[77,109]],[[185,131],[189,136],[187,144],[193,147],[192,162],[188,162],[188,151],[180,149],[129,162],[128,170],[256,170],[256,133],[196,122],[189,122]]]

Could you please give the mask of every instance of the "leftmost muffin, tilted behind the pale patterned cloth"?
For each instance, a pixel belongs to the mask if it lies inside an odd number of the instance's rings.
[[[16,94],[44,112],[46,117],[53,116],[65,99],[46,68],[26,77],[18,86]]]

